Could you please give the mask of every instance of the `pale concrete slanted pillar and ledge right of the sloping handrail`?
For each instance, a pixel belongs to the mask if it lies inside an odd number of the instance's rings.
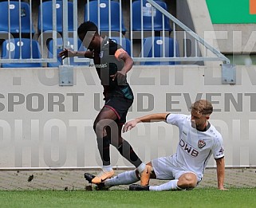
[[[179,0],[177,18],[225,54],[256,53],[254,24],[212,24],[205,0]],[[213,33],[215,31],[215,33]],[[217,40],[217,42],[216,42]]]

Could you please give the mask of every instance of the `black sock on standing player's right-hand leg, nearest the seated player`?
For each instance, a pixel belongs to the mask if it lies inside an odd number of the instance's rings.
[[[140,164],[142,163],[142,161],[133,151],[132,146],[126,140],[124,140],[124,142],[120,144],[117,150],[120,152],[121,155],[123,155],[125,159],[127,159],[135,167],[139,167]]]

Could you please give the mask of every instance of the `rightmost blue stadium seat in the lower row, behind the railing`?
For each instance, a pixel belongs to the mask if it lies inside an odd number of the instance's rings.
[[[171,37],[146,37],[144,38],[144,57],[153,57],[152,42],[154,43],[154,57],[163,57],[163,44],[164,56],[174,57],[174,40]],[[175,57],[179,57],[179,45],[176,41],[175,44]],[[140,62],[141,65],[178,65],[177,61],[147,61]]]

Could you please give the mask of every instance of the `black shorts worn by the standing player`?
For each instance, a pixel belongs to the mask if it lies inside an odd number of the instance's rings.
[[[105,100],[104,107],[112,109],[116,113],[116,123],[124,124],[126,122],[126,116],[128,109],[131,107],[133,100],[126,99],[122,96],[112,96]]]

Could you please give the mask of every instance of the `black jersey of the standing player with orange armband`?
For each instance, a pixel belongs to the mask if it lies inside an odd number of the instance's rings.
[[[108,39],[108,37],[104,37],[104,41],[101,43],[100,52],[95,52],[93,57],[96,72],[104,87],[103,94],[105,98],[110,96],[124,96],[127,99],[133,99],[132,89],[126,79],[122,83],[119,83],[118,80],[112,80],[112,77],[110,77],[124,67],[124,61],[118,60],[115,56],[118,50],[126,53],[120,45],[116,44],[111,39]]]

